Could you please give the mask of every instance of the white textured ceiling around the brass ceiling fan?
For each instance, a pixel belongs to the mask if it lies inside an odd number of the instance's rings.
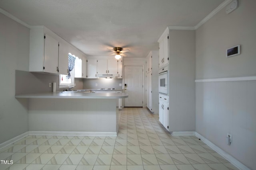
[[[194,27],[224,0],[0,0],[0,7],[28,25],[44,25],[88,57],[107,48],[128,57],[158,50],[167,26]]]

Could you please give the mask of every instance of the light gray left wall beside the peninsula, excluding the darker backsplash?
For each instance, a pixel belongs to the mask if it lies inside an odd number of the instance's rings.
[[[28,131],[28,100],[15,96],[15,70],[28,71],[29,29],[0,14],[0,143]]]

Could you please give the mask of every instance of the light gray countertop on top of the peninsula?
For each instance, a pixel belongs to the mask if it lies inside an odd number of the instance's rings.
[[[102,90],[102,91],[104,91],[104,90]],[[128,98],[128,94],[126,94],[126,93],[108,93],[108,92],[102,92],[102,93],[100,93],[100,92],[98,92],[98,93],[45,92],[45,93],[36,93],[36,94],[20,94],[20,95],[16,95],[15,98],[119,99],[119,98]]]

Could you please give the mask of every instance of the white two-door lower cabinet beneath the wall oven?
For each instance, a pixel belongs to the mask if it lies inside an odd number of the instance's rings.
[[[169,97],[159,94],[159,121],[165,129],[169,128]]]

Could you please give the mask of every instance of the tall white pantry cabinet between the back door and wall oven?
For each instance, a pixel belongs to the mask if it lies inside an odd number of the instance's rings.
[[[150,51],[146,57],[146,105],[158,113],[158,51]]]

